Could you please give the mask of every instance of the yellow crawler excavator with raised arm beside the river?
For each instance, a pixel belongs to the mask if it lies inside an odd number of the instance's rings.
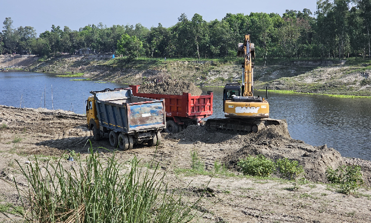
[[[253,68],[255,47],[250,43],[250,35],[245,35],[243,43],[238,44],[238,57],[242,63],[242,87],[238,83],[226,84],[223,91],[223,111],[227,118],[210,118],[205,127],[212,130],[227,129],[258,132],[258,126],[279,124],[279,120],[269,118],[269,103],[265,98],[254,96]]]

